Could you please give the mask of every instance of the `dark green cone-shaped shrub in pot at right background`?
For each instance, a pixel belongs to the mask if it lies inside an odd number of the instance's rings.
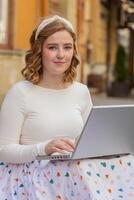
[[[116,81],[125,81],[129,79],[128,58],[122,45],[119,45],[117,48],[114,75]]]

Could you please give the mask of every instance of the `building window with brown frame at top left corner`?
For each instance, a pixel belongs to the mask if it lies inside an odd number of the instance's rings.
[[[12,47],[12,11],[13,0],[0,0],[0,48]]]

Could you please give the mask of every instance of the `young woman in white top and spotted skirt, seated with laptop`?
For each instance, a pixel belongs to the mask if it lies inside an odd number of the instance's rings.
[[[89,199],[80,162],[37,161],[72,152],[90,112],[88,88],[75,81],[79,64],[72,24],[59,16],[33,31],[22,70],[0,112],[1,199]]]

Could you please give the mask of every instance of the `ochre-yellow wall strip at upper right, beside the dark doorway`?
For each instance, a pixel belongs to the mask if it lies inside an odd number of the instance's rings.
[[[98,0],[91,1],[91,29],[90,39],[93,44],[92,59],[94,63],[105,63],[107,42],[107,21],[100,18],[101,12],[106,10]]]

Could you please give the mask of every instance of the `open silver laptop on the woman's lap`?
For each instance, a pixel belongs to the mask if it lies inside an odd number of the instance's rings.
[[[37,159],[73,160],[134,154],[134,105],[93,106],[71,154]]]

